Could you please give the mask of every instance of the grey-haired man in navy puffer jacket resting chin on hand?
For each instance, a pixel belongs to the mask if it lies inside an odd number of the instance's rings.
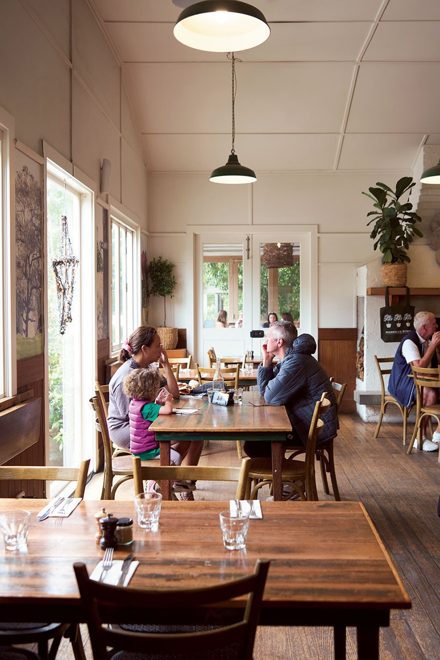
[[[257,383],[266,403],[286,407],[292,423],[292,434],[288,434],[286,444],[307,445],[315,403],[323,392],[327,392],[331,405],[329,412],[323,415],[325,426],[317,445],[335,438],[339,428],[336,397],[329,376],[312,356],[316,350],[315,339],[307,334],[298,337],[290,321],[276,321],[267,335],[261,347],[263,362],[258,368]],[[274,366],[275,357],[278,364]],[[247,440],[244,449],[252,458],[272,455],[270,442]]]

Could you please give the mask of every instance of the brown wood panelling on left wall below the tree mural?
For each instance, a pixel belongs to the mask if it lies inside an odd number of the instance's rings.
[[[44,465],[44,356],[37,355],[16,364],[17,391],[34,391],[34,397],[42,399],[40,434],[38,442],[17,454],[5,465]],[[0,482],[0,497],[15,497],[24,492],[26,496],[45,497],[44,482],[20,480]]]

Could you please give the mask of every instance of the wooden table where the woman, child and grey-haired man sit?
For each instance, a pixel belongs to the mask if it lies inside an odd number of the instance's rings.
[[[197,408],[194,414],[160,415],[150,428],[160,444],[160,464],[170,465],[170,443],[178,440],[269,440],[272,442],[274,500],[282,499],[282,442],[292,424],[284,406],[270,406],[258,392],[243,392],[243,403],[213,405],[208,399],[179,399],[177,409]],[[162,482],[169,500],[170,482]]]

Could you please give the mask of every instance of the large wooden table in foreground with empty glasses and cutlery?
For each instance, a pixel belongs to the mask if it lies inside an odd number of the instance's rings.
[[[115,559],[135,554],[140,564],[130,587],[200,587],[253,571],[271,560],[259,623],[332,626],[334,657],[346,657],[346,626],[356,626],[359,660],[379,658],[379,628],[391,609],[409,609],[402,585],[360,502],[262,502],[263,519],[251,520],[245,550],[226,550],[218,514],[229,502],[162,502],[157,532],[137,527],[132,500],[84,500],[67,518],[36,518],[46,500],[1,500],[2,510],[32,513],[26,551],[4,550],[0,540],[0,611],[4,621],[84,622],[73,572],[89,574],[102,559],[94,513],[102,507],[132,517],[134,542]],[[125,611],[142,621],[142,611]],[[326,656],[327,657],[327,656]]]

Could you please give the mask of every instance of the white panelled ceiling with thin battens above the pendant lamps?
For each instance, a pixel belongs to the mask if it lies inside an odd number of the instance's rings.
[[[172,0],[91,0],[123,70],[151,172],[231,150],[231,63],[173,37]],[[408,170],[440,143],[440,0],[248,0],[267,42],[235,53],[236,153],[263,172]]]

